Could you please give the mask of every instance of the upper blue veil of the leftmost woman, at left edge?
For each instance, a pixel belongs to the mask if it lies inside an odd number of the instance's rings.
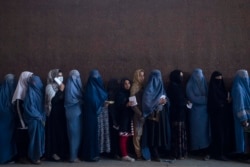
[[[16,88],[16,80],[13,74],[7,74],[0,91],[0,112],[10,112],[11,100]]]

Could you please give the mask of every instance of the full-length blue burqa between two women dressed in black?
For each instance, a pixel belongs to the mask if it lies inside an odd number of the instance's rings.
[[[195,69],[187,83],[186,93],[193,106],[188,115],[190,150],[207,148],[210,144],[210,128],[207,112],[208,88],[201,69]]]

